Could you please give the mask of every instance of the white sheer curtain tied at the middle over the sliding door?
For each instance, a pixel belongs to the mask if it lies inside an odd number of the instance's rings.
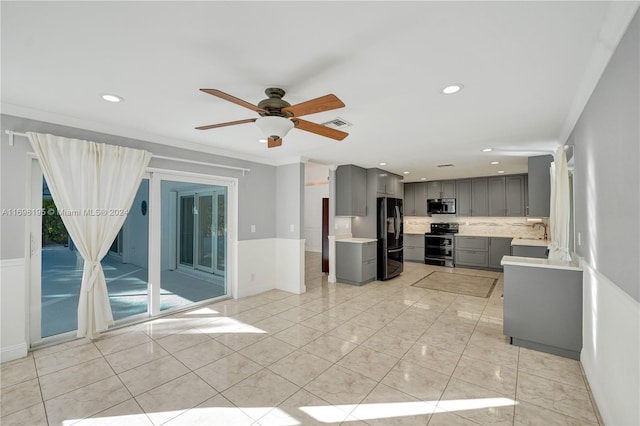
[[[147,151],[27,133],[61,218],[84,258],[78,337],[113,324],[100,260],[124,223],[151,154]]]

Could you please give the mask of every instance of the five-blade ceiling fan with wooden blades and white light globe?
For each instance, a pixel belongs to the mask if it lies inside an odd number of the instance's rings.
[[[208,130],[216,127],[255,122],[262,133],[267,137],[267,144],[269,148],[282,145],[282,138],[294,127],[339,141],[349,135],[346,132],[298,118],[303,115],[315,114],[344,107],[344,103],[333,94],[321,96],[296,105],[291,105],[289,102],[282,99],[285,94],[284,90],[277,87],[270,87],[264,91],[268,98],[260,101],[258,105],[253,105],[249,102],[243,101],[242,99],[238,99],[227,93],[221,92],[220,90],[200,90],[226,101],[233,102],[234,104],[249,108],[250,110],[257,112],[260,117],[200,126],[196,127],[197,130]]]

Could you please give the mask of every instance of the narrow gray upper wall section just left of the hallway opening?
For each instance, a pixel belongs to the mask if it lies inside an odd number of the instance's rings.
[[[276,185],[276,237],[301,239],[304,226],[304,164],[279,166],[276,169]]]

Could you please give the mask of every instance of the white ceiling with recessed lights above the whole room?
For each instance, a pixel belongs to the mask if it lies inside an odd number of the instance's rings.
[[[526,172],[566,140],[637,7],[3,1],[2,111],[268,164],[384,161],[407,181]],[[305,119],[350,135],[294,129],[268,149],[252,123],[194,130],[257,117],[198,89],[255,104],[267,87],[291,104],[334,93],[345,108]]]

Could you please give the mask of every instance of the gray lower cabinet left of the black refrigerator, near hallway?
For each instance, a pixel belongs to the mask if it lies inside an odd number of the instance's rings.
[[[362,285],[376,279],[377,241],[354,243],[336,241],[336,279]]]

